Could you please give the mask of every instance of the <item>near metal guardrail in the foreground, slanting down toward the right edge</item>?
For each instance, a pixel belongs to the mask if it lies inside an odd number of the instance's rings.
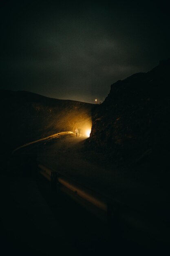
[[[130,229],[134,229],[132,234],[125,234],[128,240],[141,243],[141,237],[142,239],[146,237],[146,244],[150,238],[157,242],[164,241],[167,243],[166,240],[168,240],[168,237],[166,238],[165,234],[163,237],[157,234],[157,227],[154,225],[156,219],[152,220],[152,223],[150,223],[147,214],[143,216],[142,213],[135,211],[135,209],[132,209],[128,205],[121,205],[113,200],[110,201],[110,199],[106,198],[104,195],[100,195],[42,164],[38,164],[38,173],[51,182],[52,189],[60,189],[88,211],[99,217],[99,219],[106,222],[108,232],[109,234],[111,233],[111,236],[113,236],[113,232],[119,236],[122,225],[126,225],[129,226]],[[141,233],[141,237],[139,232]],[[162,227],[161,234],[163,234],[163,232],[166,232],[164,227]]]

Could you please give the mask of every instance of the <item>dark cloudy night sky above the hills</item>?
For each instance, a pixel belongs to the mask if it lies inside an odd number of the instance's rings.
[[[1,0],[0,19],[0,89],[102,102],[170,57],[164,1]]]

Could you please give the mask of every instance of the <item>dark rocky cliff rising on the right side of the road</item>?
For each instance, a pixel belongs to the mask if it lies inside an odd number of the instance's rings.
[[[93,112],[89,145],[114,161],[170,152],[170,59],[111,85]]]

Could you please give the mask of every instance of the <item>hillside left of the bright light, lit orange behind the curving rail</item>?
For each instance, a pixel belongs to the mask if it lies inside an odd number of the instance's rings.
[[[51,99],[25,91],[0,90],[1,151],[12,150],[76,126],[91,128],[93,104]]]

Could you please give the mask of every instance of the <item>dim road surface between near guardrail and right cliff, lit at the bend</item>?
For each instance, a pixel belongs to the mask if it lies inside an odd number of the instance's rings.
[[[130,179],[123,168],[107,166],[102,153],[86,150],[85,140],[84,137],[63,136],[49,141],[38,149],[38,162],[117,202],[137,208],[142,201],[142,207],[153,202],[149,186]]]

